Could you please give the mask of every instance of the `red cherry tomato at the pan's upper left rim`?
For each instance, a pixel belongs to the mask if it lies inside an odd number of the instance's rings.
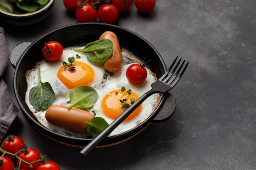
[[[63,46],[57,41],[49,41],[43,46],[42,51],[47,60],[58,61],[63,54]]]

